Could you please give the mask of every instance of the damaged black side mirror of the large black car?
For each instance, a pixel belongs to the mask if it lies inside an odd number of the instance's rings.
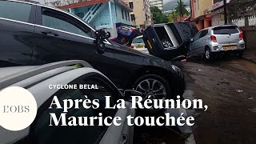
[[[105,52],[106,46],[105,46],[105,39],[110,38],[111,34],[109,31],[106,31],[106,29],[96,30],[94,32],[97,45],[97,51],[99,54],[103,54]]]

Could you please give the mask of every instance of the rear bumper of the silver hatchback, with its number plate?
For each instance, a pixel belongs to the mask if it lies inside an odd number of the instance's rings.
[[[230,48],[226,48],[226,46],[232,46]],[[232,50],[245,50],[245,42],[242,40],[238,43],[229,43],[229,44],[219,44],[217,42],[210,43],[210,51],[211,52],[225,52]]]

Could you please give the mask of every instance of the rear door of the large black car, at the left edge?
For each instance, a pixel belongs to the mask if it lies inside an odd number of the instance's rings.
[[[30,65],[34,10],[26,2],[0,1],[0,66]]]

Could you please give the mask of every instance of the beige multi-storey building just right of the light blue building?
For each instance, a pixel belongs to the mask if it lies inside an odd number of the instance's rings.
[[[140,30],[145,30],[152,24],[149,0],[125,0],[125,2],[133,10],[130,12],[132,25]]]

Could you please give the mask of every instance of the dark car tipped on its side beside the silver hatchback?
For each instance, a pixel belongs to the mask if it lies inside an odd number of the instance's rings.
[[[143,35],[150,54],[170,60],[186,54],[197,33],[194,22],[174,22],[149,26]]]

